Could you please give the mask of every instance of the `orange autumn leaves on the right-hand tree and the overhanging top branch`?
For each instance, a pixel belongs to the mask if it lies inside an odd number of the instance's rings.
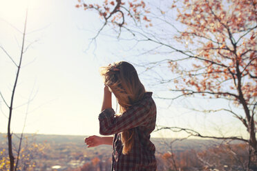
[[[173,79],[176,90],[237,104],[242,94],[247,103],[253,103],[257,96],[256,4],[256,0],[184,0],[169,1],[168,10],[160,9],[163,16],[175,10],[184,28],[167,37],[184,46],[182,54],[169,61],[171,71],[180,76]],[[147,14],[154,12],[144,1],[103,1],[100,5],[79,0],[76,7],[97,10],[113,26],[126,26],[128,21],[153,26]]]

